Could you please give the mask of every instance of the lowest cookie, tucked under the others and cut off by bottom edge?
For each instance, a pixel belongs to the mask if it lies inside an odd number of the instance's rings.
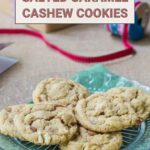
[[[119,132],[100,134],[80,127],[80,134],[72,141],[60,145],[61,150],[119,150],[122,135]]]

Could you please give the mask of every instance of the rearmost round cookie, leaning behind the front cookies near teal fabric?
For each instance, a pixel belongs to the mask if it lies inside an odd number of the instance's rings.
[[[34,103],[53,102],[55,104],[76,105],[77,101],[86,98],[90,92],[71,80],[49,78],[41,81],[33,92]]]

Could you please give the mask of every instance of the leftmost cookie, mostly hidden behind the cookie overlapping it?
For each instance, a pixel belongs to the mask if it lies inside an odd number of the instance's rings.
[[[24,105],[8,106],[0,112],[0,133],[23,139],[18,132],[15,124],[14,117],[19,114]]]

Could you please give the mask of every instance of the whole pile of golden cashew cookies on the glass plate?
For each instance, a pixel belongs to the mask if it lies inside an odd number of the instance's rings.
[[[71,80],[50,78],[33,92],[34,104],[0,112],[0,133],[61,150],[119,150],[121,130],[150,114],[150,95],[136,88],[91,94]]]

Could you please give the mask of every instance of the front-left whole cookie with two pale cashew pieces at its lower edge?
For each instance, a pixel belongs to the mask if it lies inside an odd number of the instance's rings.
[[[66,142],[77,131],[72,110],[52,104],[26,105],[14,121],[24,139],[40,145]]]

